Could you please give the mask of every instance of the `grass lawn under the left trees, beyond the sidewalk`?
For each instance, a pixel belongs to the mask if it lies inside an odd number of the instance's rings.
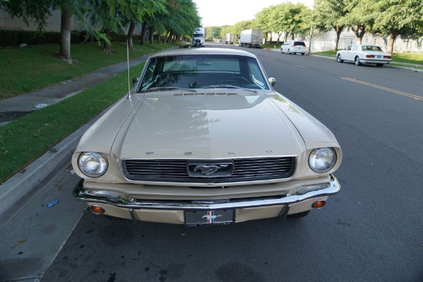
[[[134,44],[130,59],[168,49],[175,44]],[[97,43],[72,44],[73,63],[59,59],[59,45],[0,49],[0,100],[90,73],[126,60],[126,42],[114,42],[112,54]]]

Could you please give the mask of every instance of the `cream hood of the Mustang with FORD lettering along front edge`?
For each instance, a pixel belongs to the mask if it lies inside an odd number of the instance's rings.
[[[297,156],[298,130],[273,95],[233,93],[145,94],[116,135],[121,159],[221,159]]]

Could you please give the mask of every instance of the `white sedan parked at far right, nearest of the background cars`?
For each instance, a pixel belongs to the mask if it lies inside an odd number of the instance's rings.
[[[336,54],[336,61],[351,61],[355,66],[362,63],[376,63],[376,66],[384,66],[385,63],[392,61],[391,54],[382,51],[381,47],[374,45],[353,44],[345,50],[340,50]]]

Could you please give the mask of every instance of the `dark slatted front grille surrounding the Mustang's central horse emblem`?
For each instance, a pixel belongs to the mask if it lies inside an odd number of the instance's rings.
[[[233,161],[230,176],[190,176],[190,161],[219,164]],[[138,181],[176,183],[233,183],[290,178],[295,171],[295,157],[246,158],[221,160],[190,159],[125,159],[122,170],[126,178]]]

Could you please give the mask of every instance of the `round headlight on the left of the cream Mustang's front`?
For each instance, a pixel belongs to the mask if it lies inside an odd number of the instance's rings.
[[[82,173],[90,177],[102,176],[106,170],[107,159],[102,153],[84,152],[78,159],[78,166]]]

